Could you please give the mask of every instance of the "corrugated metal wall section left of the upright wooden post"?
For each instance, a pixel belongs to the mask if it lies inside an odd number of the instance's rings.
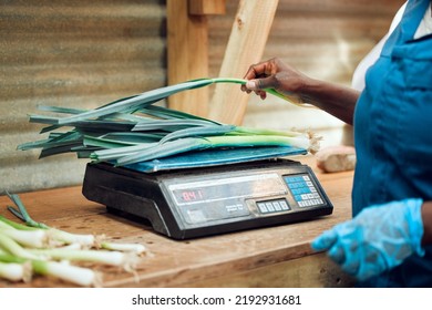
[[[0,193],[80,184],[84,159],[38,159],[38,104],[94,107],[166,83],[165,1],[0,1]]]

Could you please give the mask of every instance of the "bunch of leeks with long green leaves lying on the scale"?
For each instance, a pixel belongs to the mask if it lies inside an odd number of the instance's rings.
[[[246,81],[194,80],[121,99],[90,111],[39,106],[56,115],[65,114],[65,117],[30,115],[30,122],[48,125],[41,133],[50,133],[49,137],[21,144],[18,148],[41,148],[40,157],[74,152],[80,158],[110,161],[119,166],[208,148],[294,146],[310,153],[318,151],[319,138],[311,133],[227,125],[154,105],[175,93],[213,83],[244,84]],[[267,92],[285,97],[275,90]],[[63,126],[72,130],[58,132]]]

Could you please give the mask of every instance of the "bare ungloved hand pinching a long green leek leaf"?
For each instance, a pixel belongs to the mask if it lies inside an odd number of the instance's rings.
[[[255,91],[263,100],[267,96],[266,89],[275,89],[281,94],[292,96],[300,92],[308,81],[306,75],[277,58],[250,65],[244,79],[249,81],[241,85],[241,91]]]

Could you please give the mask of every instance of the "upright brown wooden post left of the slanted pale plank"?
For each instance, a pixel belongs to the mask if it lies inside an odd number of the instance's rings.
[[[187,1],[168,0],[168,84],[208,75],[207,17],[188,14]],[[207,116],[208,87],[182,92],[168,99],[171,108]]]

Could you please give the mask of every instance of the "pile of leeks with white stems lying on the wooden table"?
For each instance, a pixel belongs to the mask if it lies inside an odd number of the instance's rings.
[[[8,209],[25,225],[0,216],[0,279],[30,281],[50,276],[83,287],[103,286],[102,276],[86,261],[133,271],[146,248],[140,244],[115,244],[104,236],[78,235],[34,221],[18,195],[7,193],[16,207]]]

